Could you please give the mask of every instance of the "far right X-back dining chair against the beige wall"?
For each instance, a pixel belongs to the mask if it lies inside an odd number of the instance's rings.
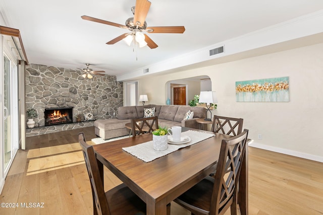
[[[213,117],[212,131],[236,136],[242,132],[243,119],[226,116]]]

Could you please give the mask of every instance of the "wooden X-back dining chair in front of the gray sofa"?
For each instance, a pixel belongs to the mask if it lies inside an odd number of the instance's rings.
[[[149,133],[158,128],[158,117],[131,119],[132,135]]]

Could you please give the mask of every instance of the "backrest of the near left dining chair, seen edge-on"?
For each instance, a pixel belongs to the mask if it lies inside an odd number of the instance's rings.
[[[95,158],[93,146],[87,145],[84,133],[79,133],[79,143],[81,145],[83,156],[91,182],[93,207],[96,208],[97,214],[110,214],[109,205],[107,203],[103,183],[100,177],[99,168]]]

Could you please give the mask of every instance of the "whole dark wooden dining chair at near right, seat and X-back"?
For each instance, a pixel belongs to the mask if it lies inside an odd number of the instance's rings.
[[[246,151],[248,130],[223,139],[215,177],[207,176],[174,201],[192,214],[237,214],[238,180]],[[230,172],[227,170],[230,169]]]

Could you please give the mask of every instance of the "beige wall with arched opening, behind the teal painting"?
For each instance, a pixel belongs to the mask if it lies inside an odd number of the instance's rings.
[[[244,118],[253,146],[323,162],[323,43],[140,79],[150,104],[165,104],[166,83],[206,75],[217,91],[219,115]],[[236,102],[235,82],[289,77],[290,102]],[[262,134],[262,140],[258,140]]]

